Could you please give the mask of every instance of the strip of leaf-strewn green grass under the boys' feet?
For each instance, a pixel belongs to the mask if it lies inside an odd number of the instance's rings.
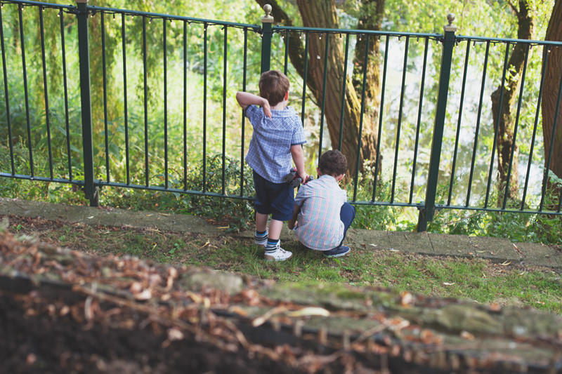
[[[343,258],[327,259],[296,241],[286,262],[266,262],[263,249],[233,236],[65,225],[11,218],[15,234],[100,255],[134,255],[173,265],[223,269],[261,279],[308,283],[384,286],[443,298],[468,298],[499,305],[531,306],[562,314],[562,280],[548,268],[501,265],[478,258],[436,258],[409,253],[353,248]],[[103,240],[100,240],[103,238]]]

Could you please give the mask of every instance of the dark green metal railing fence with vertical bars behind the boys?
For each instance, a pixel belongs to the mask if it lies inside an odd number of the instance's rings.
[[[100,187],[251,200],[235,92],[278,69],[309,163],[344,152],[355,205],[417,208],[419,230],[443,208],[562,214],[540,113],[560,42],[455,35],[452,20],[417,34],[0,3],[2,177],[78,185],[92,205]]]

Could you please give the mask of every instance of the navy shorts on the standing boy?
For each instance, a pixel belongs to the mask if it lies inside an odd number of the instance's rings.
[[[254,171],[256,212],[271,215],[273,220],[288,221],[293,218],[294,188],[289,183],[273,183]]]

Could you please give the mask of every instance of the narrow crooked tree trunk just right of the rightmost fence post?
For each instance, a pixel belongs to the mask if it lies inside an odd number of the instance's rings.
[[[518,20],[518,39],[531,39],[532,37],[532,16],[529,13],[527,0],[519,1],[519,8],[514,8]],[[525,55],[528,53],[526,44],[515,44],[511,56],[507,62],[507,74],[502,90],[502,86],[498,86],[496,91],[492,93],[492,116],[494,120],[494,130],[496,134],[497,146],[497,168],[499,171],[499,200],[504,198],[505,186],[507,178],[509,178],[509,190],[507,197],[509,199],[517,198],[518,191],[518,147],[514,137],[515,121],[511,115],[514,103],[518,96],[517,87],[521,82],[521,74],[523,72],[523,62]],[[500,96],[502,102],[500,105]],[[501,107],[501,112],[500,112]],[[511,160],[511,149],[514,149],[513,161],[511,163],[511,175],[508,175],[509,161]]]

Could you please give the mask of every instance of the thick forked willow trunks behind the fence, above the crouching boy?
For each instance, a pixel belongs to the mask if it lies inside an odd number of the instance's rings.
[[[285,12],[277,0],[256,0],[260,6],[270,4],[273,7],[275,22],[281,25],[292,26],[294,20]],[[296,0],[296,6],[302,18],[304,27],[339,28],[339,18],[335,0]],[[360,3],[360,17],[358,29],[378,30],[381,28],[381,19],[384,11],[384,0],[362,0]],[[357,39],[355,54],[353,56],[353,77],[344,76],[344,43],[345,38],[335,34],[309,34],[308,39],[308,74],[306,86],[310,89],[316,102],[325,102],[325,119],[332,147],[341,146],[348,159],[348,171],[355,174],[355,166],[359,156],[359,166],[366,160],[374,162],[377,156],[377,119],[379,108],[379,40],[374,37],[362,36]],[[287,39],[285,40],[287,42]],[[305,47],[299,34],[289,33],[289,58],[296,72],[305,76]],[[324,59],[325,48],[327,53],[327,80],[324,89]],[[365,91],[363,91],[362,74],[367,57],[367,71]],[[318,59],[317,56],[322,56]],[[360,78],[359,78],[360,77]],[[343,133],[341,145],[339,132],[341,123],[341,93],[346,87],[343,110]],[[325,97],[324,97],[325,93]],[[365,94],[364,114],[361,122],[361,98]],[[360,140],[360,152],[358,145]]]

